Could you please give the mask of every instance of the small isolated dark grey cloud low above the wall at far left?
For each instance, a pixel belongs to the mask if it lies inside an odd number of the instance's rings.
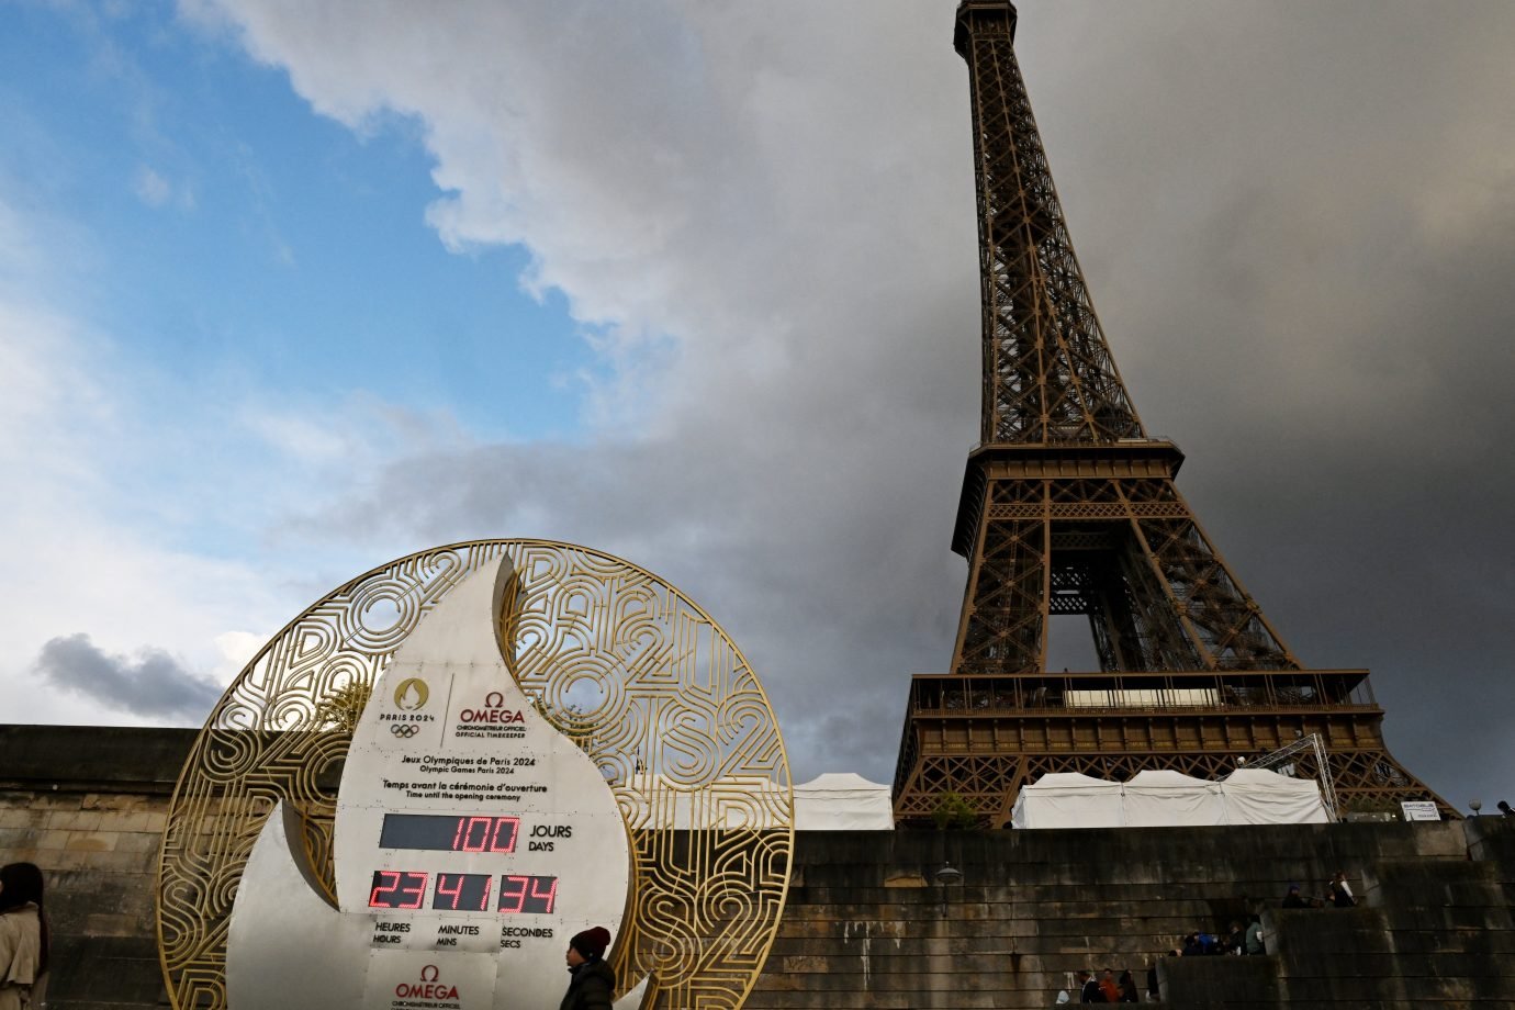
[[[141,716],[203,719],[221,697],[220,687],[180,666],[168,653],[111,656],[83,633],[42,645],[36,672],[65,690]]]

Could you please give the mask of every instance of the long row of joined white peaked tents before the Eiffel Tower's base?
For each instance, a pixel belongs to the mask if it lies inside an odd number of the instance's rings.
[[[1174,771],[1138,772],[1129,783],[1057,772],[1021,789],[1015,828],[1207,827],[1223,824],[1326,824],[1320,786],[1264,769],[1238,769],[1224,781]]]

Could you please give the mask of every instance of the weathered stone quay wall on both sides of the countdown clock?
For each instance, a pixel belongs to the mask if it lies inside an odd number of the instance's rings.
[[[153,878],[192,740],[0,727],[0,862],[47,872],[56,1010],[167,1001]],[[1364,907],[1277,910],[1338,869]],[[803,833],[792,880],[753,1008],[1050,1007],[1077,969],[1153,960],[1176,1007],[1515,1007],[1515,818]],[[1267,957],[1162,957],[1257,909]]]

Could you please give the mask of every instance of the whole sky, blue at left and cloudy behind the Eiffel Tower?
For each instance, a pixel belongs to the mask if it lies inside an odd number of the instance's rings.
[[[953,9],[0,0],[0,721],[198,725],[347,578],[548,538],[711,612],[797,780],[889,781],[967,577]],[[1017,36],[1179,489],[1462,809],[1515,798],[1512,50],[1497,0]]]

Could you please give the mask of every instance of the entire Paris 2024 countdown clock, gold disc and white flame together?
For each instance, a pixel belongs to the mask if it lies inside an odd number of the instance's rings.
[[[762,689],[677,591],[565,544],[411,556],[291,622],[201,733],[161,860],[170,996],[551,1005],[604,925],[617,1005],[736,1007],[791,825]]]

